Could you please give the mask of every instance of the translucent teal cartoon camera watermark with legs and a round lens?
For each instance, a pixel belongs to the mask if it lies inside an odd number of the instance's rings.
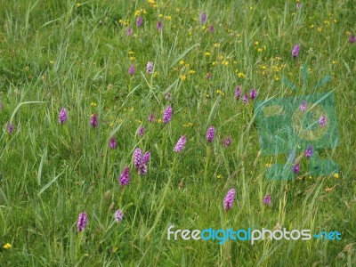
[[[309,174],[328,175],[339,170],[335,161],[320,158],[318,153],[320,149],[335,150],[339,142],[335,94],[333,91],[306,94],[306,66],[303,66],[302,73],[302,94],[255,102],[255,117],[263,154],[284,154],[287,158],[286,162],[269,167],[267,179],[293,179],[295,156],[302,154],[308,147],[314,150],[308,162]],[[330,79],[330,76],[322,78],[312,89],[325,85]],[[286,77],[283,77],[283,83],[292,90],[297,89]]]

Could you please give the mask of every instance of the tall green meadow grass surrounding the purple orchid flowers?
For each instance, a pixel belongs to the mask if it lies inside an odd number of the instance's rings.
[[[295,1],[281,0],[157,6],[1,0],[0,6],[0,125],[14,125],[12,134],[6,127],[0,134],[1,266],[356,264],[352,0],[305,1],[301,10]],[[137,28],[135,11],[143,9]],[[206,28],[199,23],[204,11]],[[126,20],[133,36],[125,34]],[[293,59],[297,43],[301,52]],[[148,61],[155,63],[154,75],[146,73]],[[266,164],[282,157],[261,153],[254,103],[236,101],[235,88],[256,88],[258,99],[293,96],[298,93],[282,77],[301,87],[304,64],[310,68],[306,93],[336,93],[340,144],[320,155],[340,165],[339,178],[309,179],[302,165],[304,179],[267,181]],[[312,90],[328,74],[331,82]],[[169,124],[148,122],[151,112],[161,118],[171,104]],[[60,125],[62,107],[69,120]],[[89,124],[92,113],[99,117],[96,129]],[[143,137],[136,134],[139,125],[146,128]],[[216,129],[213,143],[206,142],[210,125]],[[177,154],[182,134],[188,142]],[[224,148],[229,135],[231,146]],[[111,136],[117,150],[109,150]],[[151,153],[144,176],[133,166],[137,147]],[[122,188],[117,178],[125,166],[131,182]],[[231,188],[237,198],[224,212]],[[268,193],[271,207],[262,203]],[[117,208],[125,214],[121,223],[114,221]],[[88,226],[77,232],[83,211]],[[277,223],[288,230],[340,231],[342,240],[265,240],[254,246],[230,240],[220,246],[166,236],[171,224],[182,230],[272,230]],[[5,249],[6,243],[12,247]]]

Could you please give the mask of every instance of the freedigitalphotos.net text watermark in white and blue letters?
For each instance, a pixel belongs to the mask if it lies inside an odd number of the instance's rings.
[[[312,231],[308,229],[304,229],[302,231],[292,230],[287,231],[286,228],[283,230],[252,230],[251,228],[239,229],[238,231],[234,231],[232,228],[223,230],[218,229],[214,230],[213,228],[208,228],[203,231],[200,230],[174,230],[174,226],[171,225],[167,230],[167,239],[168,240],[217,240],[219,245],[223,245],[227,240],[239,240],[239,241],[249,241],[251,245],[255,244],[257,240],[311,240],[319,239],[319,240],[341,240],[341,233],[339,231],[320,231],[314,233],[312,235]]]

